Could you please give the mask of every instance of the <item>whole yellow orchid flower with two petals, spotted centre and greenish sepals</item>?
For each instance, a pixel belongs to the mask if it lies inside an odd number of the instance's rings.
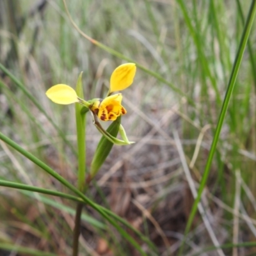
[[[83,93],[80,93],[82,86],[81,74],[77,80],[77,92],[79,96],[77,95],[76,91],[67,84],[56,84],[52,86],[49,90],[47,90],[46,95],[49,99],[57,104],[82,104],[85,108],[79,108],[81,115],[85,115],[85,113],[90,110],[93,114],[93,124],[108,141],[111,141],[111,143],[115,143],[116,145],[129,145],[133,142],[128,140],[124,127],[122,127],[120,124],[120,118],[118,120],[118,116],[126,114],[125,108],[121,105],[123,97],[121,93],[114,95],[112,93],[122,91],[129,87],[133,82],[135,73],[136,65],[134,63],[125,63],[117,67],[110,77],[109,91],[105,99],[92,99],[88,101],[81,99],[81,97],[83,97]],[[76,113],[78,112],[76,111]],[[117,133],[115,136],[113,136],[114,134],[112,135],[111,132],[108,132],[108,130],[105,131],[100,125],[98,118],[102,121],[115,121],[117,119],[116,122],[113,122],[111,125],[109,125],[109,127],[111,128],[111,131],[114,127],[115,129],[118,128],[123,140],[118,140],[116,138]],[[111,144],[110,147],[112,147],[112,145],[113,144]],[[96,162],[99,162],[98,159]],[[97,168],[99,168],[99,166]]]

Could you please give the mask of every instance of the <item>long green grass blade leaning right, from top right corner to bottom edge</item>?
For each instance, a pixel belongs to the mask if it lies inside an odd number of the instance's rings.
[[[221,127],[223,125],[224,118],[225,118],[225,115],[227,113],[228,103],[230,102],[230,98],[231,98],[231,95],[232,95],[232,92],[233,92],[233,89],[234,89],[234,86],[235,86],[235,83],[236,83],[236,77],[237,77],[237,74],[238,74],[238,71],[239,71],[239,67],[241,65],[241,61],[242,61],[243,54],[244,54],[244,49],[246,47],[246,43],[248,41],[248,37],[249,37],[250,31],[252,29],[253,20],[255,18],[255,13],[256,13],[256,1],[253,0],[252,4],[250,6],[250,10],[249,10],[249,13],[248,13],[246,24],[244,26],[243,35],[241,36],[241,41],[240,41],[238,51],[237,51],[237,54],[236,54],[236,60],[234,61],[234,65],[233,65],[233,68],[232,68],[230,79],[228,81],[227,92],[225,94],[225,99],[223,100],[220,116],[219,116],[219,119],[218,119],[218,124],[217,124],[217,127],[216,127],[216,132],[214,134],[214,138],[212,140],[212,145],[211,145],[211,148],[210,148],[207,163],[205,165],[204,175],[202,177],[202,180],[200,182],[200,186],[199,186],[199,189],[198,189],[198,196],[196,197],[196,200],[193,204],[192,210],[189,214],[188,223],[187,223],[186,229],[185,229],[185,236],[184,236],[184,239],[182,240],[182,244],[180,246],[179,255],[182,255],[182,250],[183,250],[183,247],[184,247],[184,242],[186,240],[186,235],[188,234],[189,229],[191,228],[192,222],[193,222],[195,214],[196,214],[196,209],[197,209],[198,203],[200,202],[200,198],[201,198],[202,193],[204,191],[205,184],[207,182],[207,178],[208,178],[210,170],[211,170],[212,159],[214,157],[214,153],[216,151],[216,146],[217,146],[218,140],[220,138]]]

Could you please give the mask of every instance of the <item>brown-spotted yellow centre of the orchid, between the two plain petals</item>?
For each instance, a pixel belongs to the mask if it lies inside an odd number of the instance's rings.
[[[120,115],[125,115],[126,110],[121,105],[122,94],[114,94],[105,99],[92,100],[92,105],[89,107],[95,115],[97,115],[102,121],[115,121]]]

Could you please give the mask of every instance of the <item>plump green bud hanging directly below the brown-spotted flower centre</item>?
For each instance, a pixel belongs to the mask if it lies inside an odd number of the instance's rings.
[[[108,134],[111,134],[111,136],[115,138],[115,136],[117,136],[118,134],[120,124],[121,116],[118,116],[118,118],[116,118],[116,120],[112,122],[111,125],[109,125],[106,132],[108,132]],[[91,177],[94,177],[96,173],[99,171],[100,166],[102,166],[102,164],[108,157],[113,145],[114,143],[110,141],[109,138],[106,138],[106,135],[102,136],[92,159],[92,164],[90,168]]]

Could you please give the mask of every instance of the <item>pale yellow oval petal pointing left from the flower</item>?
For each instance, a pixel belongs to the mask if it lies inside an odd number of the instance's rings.
[[[72,104],[79,102],[76,91],[67,84],[56,84],[45,93],[49,99],[57,104]]]

